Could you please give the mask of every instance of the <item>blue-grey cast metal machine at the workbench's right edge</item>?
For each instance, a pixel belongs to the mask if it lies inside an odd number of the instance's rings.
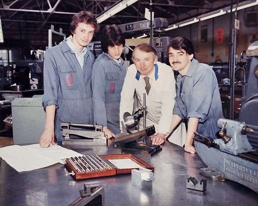
[[[258,152],[250,145],[246,134],[253,132],[244,122],[218,119],[219,136],[203,136],[195,132],[194,145],[208,168],[201,169],[202,175],[213,180],[216,176],[241,183],[258,193]]]

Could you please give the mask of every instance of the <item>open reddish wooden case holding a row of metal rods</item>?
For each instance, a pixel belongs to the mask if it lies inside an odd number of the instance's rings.
[[[65,159],[65,166],[75,179],[131,173],[141,167],[154,167],[133,154],[83,155]]]

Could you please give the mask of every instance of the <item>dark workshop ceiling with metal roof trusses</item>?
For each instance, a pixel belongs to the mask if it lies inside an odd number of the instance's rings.
[[[121,0],[122,1],[122,0]],[[245,0],[138,0],[100,23],[123,24],[145,20],[145,8],[152,9],[154,17],[166,18],[169,24],[229,6]],[[89,10],[100,16],[116,5],[118,0],[1,0],[0,15],[4,39],[30,39],[31,44],[45,45],[51,24],[61,27],[69,35],[74,13]],[[132,34],[128,34],[132,35]],[[127,36],[131,37],[131,36]]]

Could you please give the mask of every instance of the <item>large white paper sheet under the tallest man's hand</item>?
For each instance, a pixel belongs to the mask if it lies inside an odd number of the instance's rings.
[[[64,163],[63,159],[71,156],[82,156],[83,154],[64,148],[59,145],[50,145],[42,148],[40,144],[11,145],[0,148],[0,156],[17,171],[30,171]]]

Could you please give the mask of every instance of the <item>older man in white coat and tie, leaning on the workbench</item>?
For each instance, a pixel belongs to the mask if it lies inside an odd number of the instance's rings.
[[[146,126],[154,125],[157,138],[164,139],[169,133],[175,103],[175,78],[170,66],[157,61],[156,50],[147,43],[138,44],[132,53],[134,64],[128,67],[124,80],[120,121],[127,111],[133,113],[134,92],[139,106],[143,106],[146,93]],[[140,128],[143,118],[140,118]]]

